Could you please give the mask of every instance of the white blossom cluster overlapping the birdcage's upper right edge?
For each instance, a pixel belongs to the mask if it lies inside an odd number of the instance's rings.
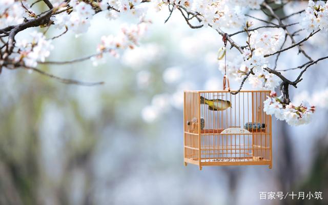
[[[315,106],[310,106],[308,102],[302,101],[299,106],[292,103],[283,103],[282,96],[277,97],[275,92],[271,92],[270,97],[264,101],[263,110],[269,115],[275,115],[279,120],[285,120],[291,126],[309,124],[315,112]]]

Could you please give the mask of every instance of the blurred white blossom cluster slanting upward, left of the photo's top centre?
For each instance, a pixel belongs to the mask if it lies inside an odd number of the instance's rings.
[[[103,53],[109,52],[114,57],[119,57],[118,50],[133,49],[138,45],[140,38],[147,30],[147,22],[141,22],[137,25],[122,25],[119,33],[114,35],[102,36],[101,42],[97,47],[99,55],[93,58],[94,65],[97,65],[96,60],[103,58]]]

